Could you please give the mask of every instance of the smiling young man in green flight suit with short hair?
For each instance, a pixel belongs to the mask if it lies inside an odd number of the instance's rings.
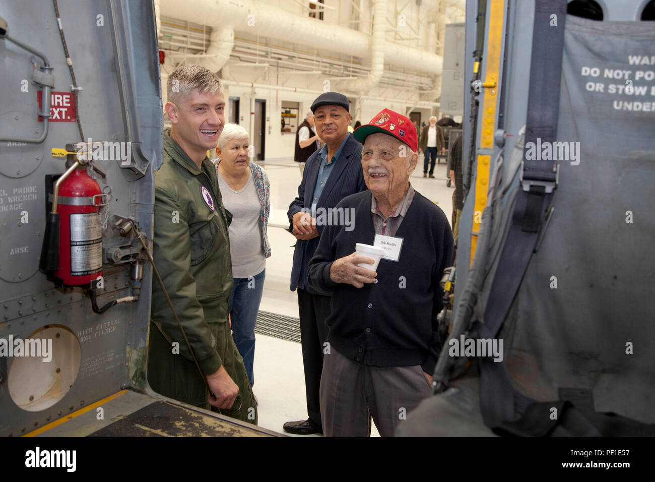
[[[191,65],[174,71],[167,88],[164,109],[172,125],[164,130],[164,162],[155,172],[153,260],[193,353],[153,282],[148,381],[166,397],[257,424],[228,323],[232,214],[207,157],[223,131],[221,85],[214,73]]]

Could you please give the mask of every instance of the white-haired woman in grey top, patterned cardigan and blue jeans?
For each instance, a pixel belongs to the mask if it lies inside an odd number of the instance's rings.
[[[250,162],[246,129],[227,124],[221,132],[215,161],[229,226],[234,286],[229,300],[234,344],[244,359],[250,385],[255,383],[255,321],[264,288],[266,258],[271,256],[267,224],[271,209],[269,178]]]

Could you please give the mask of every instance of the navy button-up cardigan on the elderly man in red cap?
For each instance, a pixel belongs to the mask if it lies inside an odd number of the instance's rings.
[[[371,191],[350,195],[338,207],[354,207],[354,230],[326,226],[309,264],[310,286],[332,294],[327,341],[358,363],[421,365],[431,374],[441,350],[439,282],[444,268],[453,262],[453,231],[445,214],[417,192],[396,233],[403,238],[398,262],[380,260],[377,283],[356,288],[335,283],[329,270],[334,260],[355,251],[355,243],[373,244]]]

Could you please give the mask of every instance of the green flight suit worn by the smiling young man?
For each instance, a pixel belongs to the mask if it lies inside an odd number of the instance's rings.
[[[233,285],[231,220],[214,165],[206,157],[198,169],[166,129],[164,163],[155,172],[153,260],[204,374],[223,365],[239,387],[232,409],[220,412],[256,425],[252,388],[227,318]],[[166,397],[209,409],[209,391],[154,276],[150,321],[150,386]]]

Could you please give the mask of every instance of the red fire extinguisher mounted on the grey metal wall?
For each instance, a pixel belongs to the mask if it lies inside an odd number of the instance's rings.
[[[54,190],[52,211],[60,220],[54,277],[65,286],[89,286],[102,276],[103,194],[84,166],[71,166],[66,174]]]

